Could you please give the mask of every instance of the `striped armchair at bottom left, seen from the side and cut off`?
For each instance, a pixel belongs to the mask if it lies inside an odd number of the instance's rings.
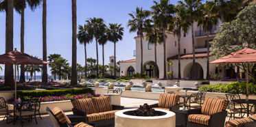
[[[63,113],[63,111],[59,107],[55,107],[54,109],[46,108],[47,113],[51,117],[51,121],[53,122],[55,127],[93,127],[94,123],[71,123],[67,115]]]

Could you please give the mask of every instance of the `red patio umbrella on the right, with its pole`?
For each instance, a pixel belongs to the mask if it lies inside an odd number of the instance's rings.
[[[248,64],[256,63],[256,50],[251,48],[244,48],[240,51],[221,57],[215,61],[211,61],[210,64],[232,64],[232,63],[244,63],[246,64],[246,83],[247,83],[247,94],[248,92]]]

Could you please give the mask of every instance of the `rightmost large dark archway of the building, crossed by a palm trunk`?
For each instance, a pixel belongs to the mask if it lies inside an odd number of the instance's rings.
[[[204,79],[204,71],[202,70],[202,66],[198,63],[195,64],[196,66],[196,80]],[[183,77],[192,79],[193,75],[193,62],[187,64],[183,70]]]

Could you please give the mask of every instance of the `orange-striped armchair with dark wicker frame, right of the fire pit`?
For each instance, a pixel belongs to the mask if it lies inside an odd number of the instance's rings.
[[[227,100],[205,98],[202,108],[187,111],[189,127],[221,127],[226,119]]]

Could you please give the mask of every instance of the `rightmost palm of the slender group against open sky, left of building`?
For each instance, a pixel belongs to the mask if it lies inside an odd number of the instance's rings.
[[[121,27],[121,24],[117,25],[117,23],[109,23],[109,31],[108,31],[108,40],[110,42],[114,43],[114,57],[115,57],[115,44],[119,40],[123,40],[124,36],[124,27]],[[114,65],[116,64],[116,57],[114,58]],[[104,65],[103,65],[104,66]],[[116,65],[115,65],[116,66]],[[115,67],[114,66],[114,67]],[[115,67],[116,68],[116,67]],[[116,75],[116,70],[115,70],[115,77]]]

